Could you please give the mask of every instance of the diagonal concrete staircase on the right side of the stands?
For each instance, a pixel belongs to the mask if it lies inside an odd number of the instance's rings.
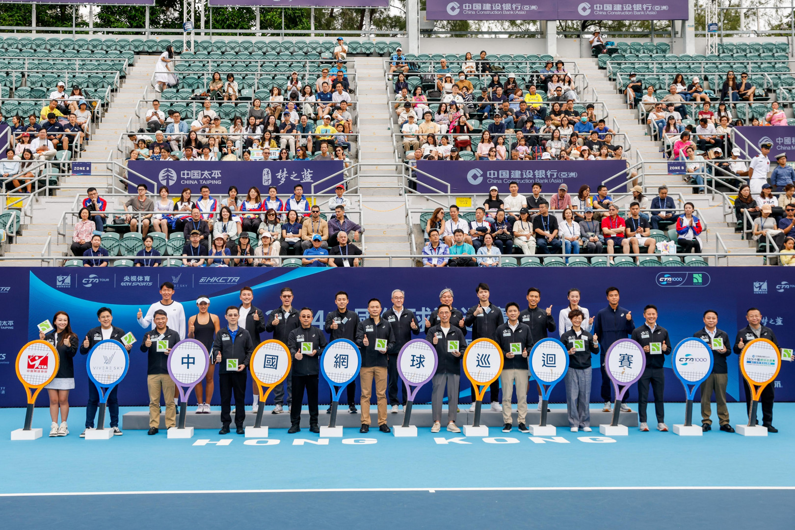
[[[615,122],[619,126],[618,132],[625,133],[629,139],[633,153],[627,153],[627,155],[632,163],[638,161],[634,152],[641,153],[644,161],[665,160],[660,152],[659,144],[652,141],[651,137],[646,134],[647,126],[638,122],[638,110],[630,110],[626,106],[626,96],[619,94],[616,91],[615,82],[607,79],[607,70],[599,70],[595,59],[564,59],[564,61],[567,64],[570,61],[576,62],[580,72],[588,76],[589,86],[595,89],[599,101],[603,101],[607,106],[611,118],[608,120],[607,126],[615,129],[612,119],[615,118]],[[721,195],[715,195],[713,199],[712,195],[693,194],[691,188],[673,188],[673,186],[681,186],[682,180],[678,175],[666,175],[661,164],[646,164],[644,171],[646,178],[643,185],[647,196],[653,197],[656,194],[657,186],[666,184],[671,187],[672,195],[681,195],[684,201],[690,201],[696,205],[696,209],[707,226],[704,252],[723,252],[723,247],[719,246],[717,250],[715,248],[717,234],[720,234],[727,251],[735,254],[729,257],[730,265],[762,265],[762,255],[755,253],[755,243],[743,240],[740,238],[740,234],[735,234],[733,216],[728,218],[728,222],[723,216],[723,197]],[[712,259],[708,261],[714,265]],[[725,261],[721,261],[721,263],[724,264]]]

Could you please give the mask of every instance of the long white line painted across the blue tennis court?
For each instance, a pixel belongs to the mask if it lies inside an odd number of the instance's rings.
[[[74,497],[79,495],[163,495],[200,493],[338,493],[426,491],[605,491],[605,490],[686,490],[686,489],[792,489],[795,486],[537,486],[515,488],[315,488],[315,489],[183,489],[168,491],[83,491],[56,493],[0,493],[0,497]]]

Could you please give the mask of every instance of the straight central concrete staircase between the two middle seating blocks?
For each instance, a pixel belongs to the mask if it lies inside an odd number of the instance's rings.
[[[399,183],[399,165],[394,159],[392,131],[386,113],[386,84],[381,57],[356,58],[359,102],[359,192],[363,195],[366,228],[365,251],[370,254],[407,254],[409,237],[405,225],[405,201]],[[369,265],[388,266],[384,260]],[[392,265],[411,265],[407,258]]]

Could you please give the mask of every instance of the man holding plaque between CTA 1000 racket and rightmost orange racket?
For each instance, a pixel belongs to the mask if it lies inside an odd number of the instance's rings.
[[[715,389],[720,430],[734,432],[734,427],[729,424],[729,409],[726,406],[726,386],[729,381],[726,358],[731,355],[731,350],[729,350],[729,335],[726,331],[718,329],[718,311],[713,309],[704,311],[704,327],[696,331],[693,336],[703,340],[712,348],[712,373],[701,383],[701,430],[712,431],[710,398],[712,390]]]

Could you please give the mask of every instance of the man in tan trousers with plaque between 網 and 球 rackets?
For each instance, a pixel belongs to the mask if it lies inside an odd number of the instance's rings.
[[[386,352],[394,348],[395,334],[392,326],[381,318],[381,300],[371,298],[367,302],[369,319],[364,319],[356,327],[356,346],[362,353],[362,369],[359,370],[359,384],[362,386],[361,407],[362,427],[359,432],[370,431],[370,395],[378,398],[378,430],[391,432],[386,424],[386,372],[389,362]]]

